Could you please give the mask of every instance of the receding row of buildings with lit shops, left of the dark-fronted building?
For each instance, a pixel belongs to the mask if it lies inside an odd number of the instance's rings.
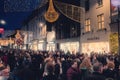
[[[24,21],[23,31],[27,32],[28,49],[46,50],[47,25],[44,19],[46,6],[40,6]]]

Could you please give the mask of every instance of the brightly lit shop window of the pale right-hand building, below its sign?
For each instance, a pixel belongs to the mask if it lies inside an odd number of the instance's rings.
[[[109,42],[89,42],[82,43],[82,53],[90,54],[91,52],[96,53],[108,53],[110,51]]]

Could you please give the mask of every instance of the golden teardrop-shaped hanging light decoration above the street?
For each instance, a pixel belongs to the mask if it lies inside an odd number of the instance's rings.
[[[55,11],[52,0],[49,0],[49,7],[44,17],[48,22],[55,22],[59,17],[58,12]]]

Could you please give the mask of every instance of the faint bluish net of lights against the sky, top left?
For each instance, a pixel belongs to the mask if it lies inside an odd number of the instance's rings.
[[[36,9],[41,0],[4,0],[5,12],[26,12]]]

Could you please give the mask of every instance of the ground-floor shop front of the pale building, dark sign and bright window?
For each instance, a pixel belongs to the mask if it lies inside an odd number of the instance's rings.
[[[109,33],[86,34],[81,37],[81,53],[90,55],[91,52],[104,54],[110,52]]]

